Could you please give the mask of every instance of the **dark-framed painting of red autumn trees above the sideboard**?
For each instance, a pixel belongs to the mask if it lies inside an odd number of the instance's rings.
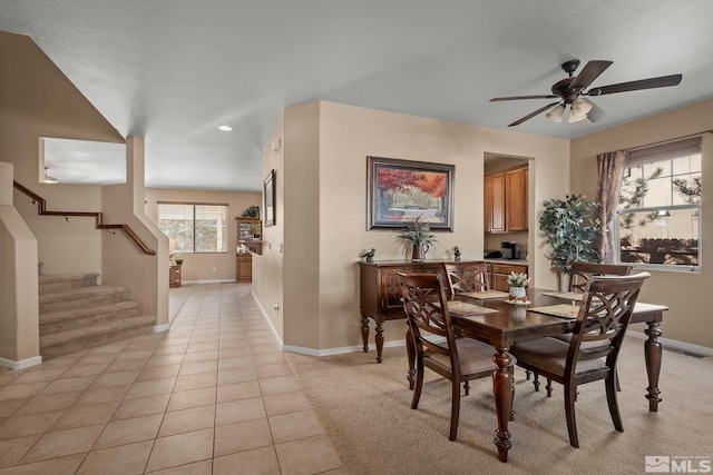
[[[417,217],[432,230],[453,230],[456,166],[367,157],[368,229],[403,228]]]

